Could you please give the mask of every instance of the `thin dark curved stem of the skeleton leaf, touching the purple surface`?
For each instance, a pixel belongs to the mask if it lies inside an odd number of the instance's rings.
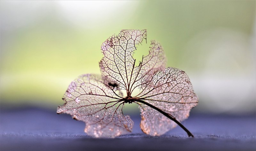
[[[153,109],[156,109],[158,112],[162,113],[164,116],[170,118],[172,121],[177,123],[184,131],[187,132],[188,137],[190,137],[190,136],[194,137],[194,135],[191,132],[189,132],[186,127],[184,127],[179,121],[176,120],[175,117],[171,116],[170,114],[168,114],[168,113],[164,112],[163,110],[155,107],[154,105],[149,104],[148,102],[145,102],[145,101],[142,101],[142,100],[139,100],[139,99],[132,99],[132,101],[140,102],[140,103],[143,103],[143,104],[145,104],[145,105],[147,105],[147,106],[149,106],[149,107],[151,107]]]

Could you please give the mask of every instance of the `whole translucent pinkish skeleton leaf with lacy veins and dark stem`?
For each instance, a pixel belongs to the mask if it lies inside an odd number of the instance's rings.
[[[134,102],[146,134],[162,135],[178,124],[193,136],[180,124],[198,102],[190,80],[179,69],[165,68],[164,51],[156,41],[151,41],[148,56],[136,62],[136,45],[146,38],[146,30],[122,30],[108,38],[101,46],[101,76],[85,74],[71,82],[57,113],[84,121],[88,135],[115,137],[132,131],[133,122],[122,109],[124,103]],[[133,93],[135,89],[139,94]]]

